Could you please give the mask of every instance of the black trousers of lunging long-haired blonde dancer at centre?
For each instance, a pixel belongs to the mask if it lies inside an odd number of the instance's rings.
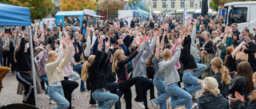
[[[130,78],[129,80],[123,81],[122,83],[118,84],[119,90],[123,92],[125,100],[126,100],[126,109],[131,109],[131,91],[130,88],[135,84],[135,91],[137,96],[135,101],[142,102],[143,95],[142,95],[142,84],[140,77]]]

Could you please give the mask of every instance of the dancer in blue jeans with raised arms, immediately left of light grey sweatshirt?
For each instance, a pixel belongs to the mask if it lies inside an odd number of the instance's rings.
[[[162,62],[162,49],[163,49],[163,42],[164,38],[162,38],[161,45],[159,45],[159,37],[157,39],[157,45],[154,53],[154,58],[152,59],[152,63],[154,64],[154,80],[153,84],[158,90],[158,98],[151,99],[151,103],[153,104],[154,108],[158,108],[158,104],[160,109],[166,109],[166,99],[170,97],[170,95],[166,92],[166,84],[164,83],[165,76],[162,73],[159,73],[158,64]]]

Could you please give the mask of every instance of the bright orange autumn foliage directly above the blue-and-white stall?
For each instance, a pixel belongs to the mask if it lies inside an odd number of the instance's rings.
[[[61,10],[62,11],[71,11],[71,10],[97,10],[98,2],[94,0],[61,0],[62,2]]]

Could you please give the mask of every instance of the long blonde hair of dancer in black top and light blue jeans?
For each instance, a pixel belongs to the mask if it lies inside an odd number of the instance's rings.
[[[86,63],[82,66],[82,72],[81,72],[81,78],[83,81],[85,81],[89,77],[89,73],[87,72],[87,69],[90,67],[90,64],[94,62],[95,55],[91,55],[88,57],[88,60],[86,60]]]

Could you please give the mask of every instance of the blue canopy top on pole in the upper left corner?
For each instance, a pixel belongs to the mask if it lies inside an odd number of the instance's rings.
[[[31,26],[30,8],[0,3],[0,25]]]

